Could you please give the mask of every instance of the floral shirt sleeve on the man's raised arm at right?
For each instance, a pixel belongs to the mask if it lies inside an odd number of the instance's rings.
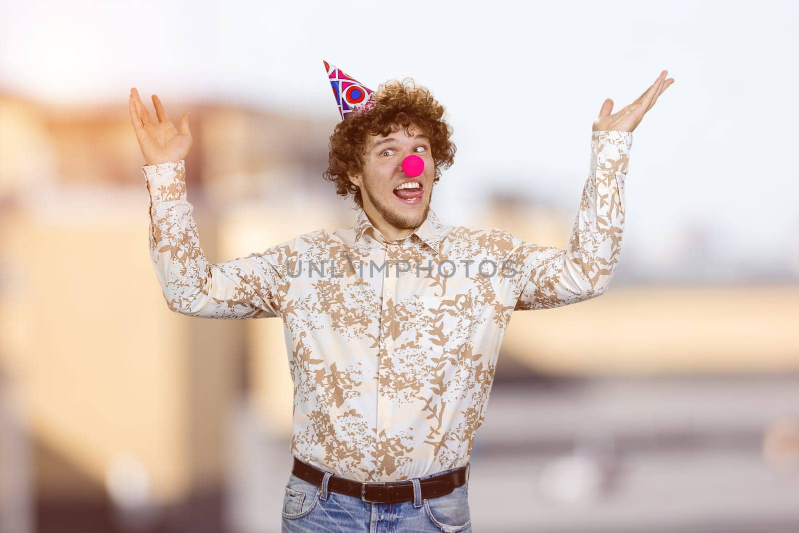
[[[515,250],[523,265],[516,310],[560,307],[606,291],[621,253],[632,142],[631,132],[591,133],[590,174],[568,248],[522,242]]]

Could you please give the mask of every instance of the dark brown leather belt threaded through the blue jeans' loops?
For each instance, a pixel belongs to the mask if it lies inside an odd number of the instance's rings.
[[[419,486],[422,489],[422,499],[443,496],[454,491],[469,480],[469,463],[456,470],[445,474],[431,475],[427,479],[419,479]],[[292,474],[300,479],[313,483],[316,487],[322,487],[324,471],[313,467],[308,463],[294,458]],[[369,503],[396,503],[413,501],[413,483],[408,480],[403,481],[383,481],[379,483],[361,483],[352,479],[340,478],[331,475],[328,479],[328,491],[340,492],[363,499]]]

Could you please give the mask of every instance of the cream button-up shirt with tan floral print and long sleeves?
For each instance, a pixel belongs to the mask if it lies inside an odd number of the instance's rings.
[[[292,455],[361,482],[435,474],[469,460],[511,313],[606,291],[631,145],[632,133],[592,132],[566,249],[448,225],[432,209],[388,242],[361,210],[348,229],[217,264],[200,247],[185,161],[145,165],[150,254],[174,312],[283,320]]]

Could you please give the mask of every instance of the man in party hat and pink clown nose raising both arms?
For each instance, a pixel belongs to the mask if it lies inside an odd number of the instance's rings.
[[[280,316],[294,383],[284,531],[471,531],[468,459],[515,310],[606,291],[618,263],[632,131],[674,78],[594,120],[591,170],[566,249],[498,228],[447,225],[430,209],[454,161],[443,106],[424,87],[377,91],[324,62],[342,121],[324,177],[356,223],[211,264],[186,199],[188,113],[175,129],[131,89],[146,165],[149,246],[169,308]]]

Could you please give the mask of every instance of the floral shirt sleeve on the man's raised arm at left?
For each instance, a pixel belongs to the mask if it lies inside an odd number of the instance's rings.
[[[185,160],[141,167],[149,192],[149,250],[169,309],[190,316],[279,316],[286,276],[274,247],[213,265],[186,199]]]

